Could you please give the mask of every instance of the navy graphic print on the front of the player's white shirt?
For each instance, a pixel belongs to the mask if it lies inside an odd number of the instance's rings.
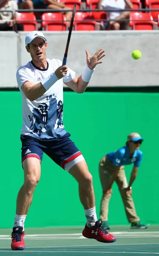
[[[63,122],[63,102],[57,102],[55,94],[46,97],[46,103],[40,103],[37,108],[33,108],[32,116],[29,115],[31,133],[41,134],[52,133],[52,129],[64,128]]]

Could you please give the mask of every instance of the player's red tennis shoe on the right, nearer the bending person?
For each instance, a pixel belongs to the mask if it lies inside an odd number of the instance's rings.
[[[95,226],[88,228],[87,224],[82,232],[82,235],[86,238],[95,239],[98,242],[102,243],[113,243],[116,241],[116,238],[109,234],[101,226],[101,220],[95,222]]]

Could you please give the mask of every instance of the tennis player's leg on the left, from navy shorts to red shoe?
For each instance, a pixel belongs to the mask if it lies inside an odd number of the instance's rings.
[[[33,192],[40,180],[40,162],[43,157],[42,149],[32,137],[23,135],[21,141],[24,183],[17,195],[17,209],[12,232],[12,250],[25,249],[24,222],[32,203]]]

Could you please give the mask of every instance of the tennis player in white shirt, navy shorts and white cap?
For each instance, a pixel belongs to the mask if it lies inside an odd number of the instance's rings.
[[[87,163],[63,124],[63,82],[76,93],[84,93],[96,65],[102,63],[104,50],[99,49],[93,57],[86,51],[87,65],[77,78],[74,71],[62,66],[62,61],[46,58],[47,41],[42,32],[28,33],[25,43],[32,61],[17,70],[17,83],[23,101],[20,138],[24,183],[17,195],[12,250],[25,248],[24,221],[40,180],[43,152],[78,181],[79,197],[87,220],[83,236],[104,243],[114,242],[116,238],[107,233],[100,219],[97,219],[93,180]]]

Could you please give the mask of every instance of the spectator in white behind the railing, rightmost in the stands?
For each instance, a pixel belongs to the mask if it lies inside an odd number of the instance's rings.
[[[129,11],[116,11],[117,9],[133,9],[133,3],[130,0],[99,0],[98,9],[114,9],[115,12],[106,12],[107,19],[105,28],[110,28],[111,30],[124,30],[128,29],[129,21],[120,21],[123,19],[130,19]]]

